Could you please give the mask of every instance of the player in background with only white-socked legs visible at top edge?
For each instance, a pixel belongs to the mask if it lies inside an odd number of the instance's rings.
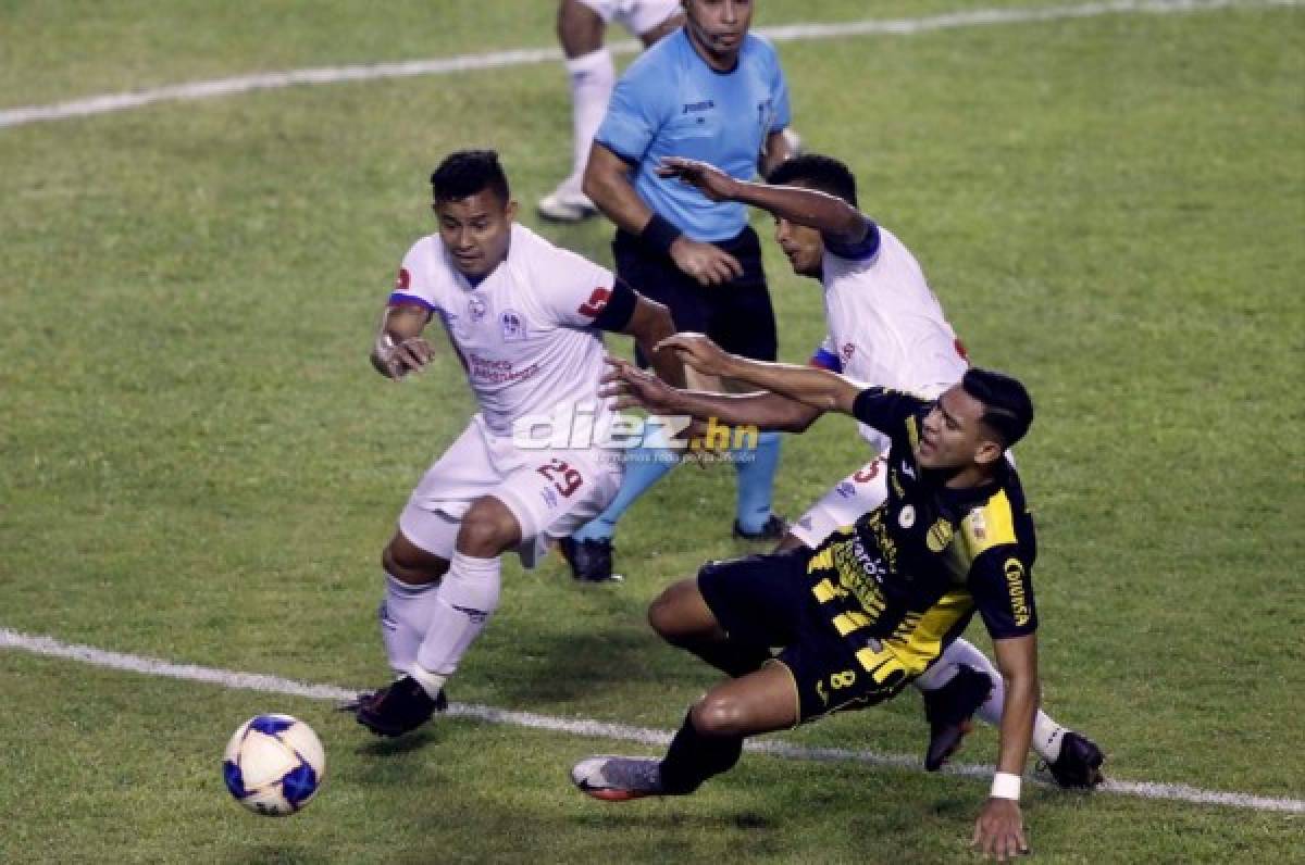
[[[579,222],[598,214],[581,190],[581,179],[616,86],[616,64],[603,44],[607,25],[617,21],[643,47],[651,46],[684,23],[680,0],[560,0],[557,40],[566,56],[572,90],[572,172],[556,189],[539,200],[539,215],[553,222]]]

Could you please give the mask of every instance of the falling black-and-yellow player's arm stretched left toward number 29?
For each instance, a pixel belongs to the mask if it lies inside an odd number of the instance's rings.
[[[685,365],[707,376],[735,378],[744,384],[795,399],[820,411],[852,414],[857,394],[864,386],[851,378],[793,364],[770,364],[731,355],[703,334],[680,333],[663,339],[658,351],[679,355]]]

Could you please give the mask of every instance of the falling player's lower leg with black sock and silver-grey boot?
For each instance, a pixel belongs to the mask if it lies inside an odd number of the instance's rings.
[[[739,762],[748,736],[797,724],[797,689],[783,664],[767,664],[709,690],[689,710],[666,757],[590,757],[572,780],[594,798],[683,796]]]

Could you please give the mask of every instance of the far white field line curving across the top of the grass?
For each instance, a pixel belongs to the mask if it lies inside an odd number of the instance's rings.
[[[795,23],[775,27],[758,27],[758,33],[775,42],[805,39],[840,39],[868,35],[912,35],[933,30],[955,30],[1004,23],[1028,23],[1040,21],[1061,21],[1066,18],[1094,18],[1107,14],[1173,14],[1227,9],[1232,7],[1298,7],[1305,0],[1111,0],[1107,3],[1084,3],[1070,7],[1047,7],[1040,9],[1007,8],[976,9],[972,12],[951,12],[924,18],[867,20],[839,23]],[[633,53],[638,44],[633,40],[609,46],[616,53]],[[377,63],[368,65],[325,67],[318,69],[292,69],[290,72],[269,72],[262,74],[194,81],[191,83],[168,85],[153,90],[116,93],[50,106],[23,106],[0,111],[0,128],[20,127],[43,120],[67,120],[89,115],[108,114],[140,108],[157,102],[179,102],[210,99],[254,90],[274,90],[295,85],[326,85],[343,81],[372,81],[376,78],[406,78],[411,76],[440,76],[476,69],[500,69],[534,63],[560,61],[557,48],[522,48],[515,51],[495,51],[489,53],[470,53],[457,57],[435,60],[408,60],[402,63]]]

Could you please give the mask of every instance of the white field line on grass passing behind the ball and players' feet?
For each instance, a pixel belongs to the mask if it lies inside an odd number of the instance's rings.
[[[128,655],[124,652],[95,648],[94,646],[64,643],[54,639],[52,637],[23,634],[16,630],[9,630],[8,628],[0,628],[0,650],[5,648],[31,652],[34,655],[46,655],[50,658],[68,658],[91,664],[94,667],[123,669],[133,673],[144,673],[146,676],[183,678],[187,681],[219,685],[222,688],[256,690],[268,694],[343,701],[358,693],[356,690],[339,688],[337,685],[309,685],[288,678],[279,678],[277,676],[265,676],[262,673],[241,673],[230,669],[198,667],[196,664],[174,664],[158,658]],[[538,715],[535,712],[518,712],[506,708],[476,706],[471,703],[450,703],[448,714],[455,718],[470,718],[489,724],[509,724],[530,729],[570,733],[573,736],[613,738],[639,745],[664,746],[671,741],[671,732],[664,729],[630,727],[628,724],[611,724],[585,719],[553,718],[549,715]],[[750,751],[786,759],[857,762],[869,763],[872,766],[891,766],[897,768],[920,768],[919,757],[908,757],[904,754],[878,754],[876,751],[851,750],[844,748],[809,748],[805,745],[793,745],[776,738],[761,741],[752,740],[746,744],[746,748]],[[962,763],[949,766],[945,771],[954,775],[987,779],[992,775],[993,767]],[[1040,783],[1036,779],[1031,780],[1034,780],[1034,783]],[[1143,798],[1191,802],[1194,805],[1225,805],[1229,808],[1245,808],[1259,812],[1305,814],[1305,800],[1274,798],[1267,796],[1253,796],[1250,793],[1201,789],[1186,784],[1111,780],[1100,787],[1099,791],[1105,793],[1121,793],[1125,796],[1141,796]]]

